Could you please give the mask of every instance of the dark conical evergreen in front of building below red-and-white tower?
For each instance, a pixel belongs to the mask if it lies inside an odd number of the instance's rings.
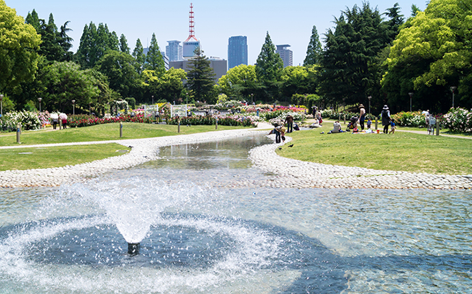
[[[189,62],[187,88],[195,100],[213,104],[216,102],[215,72],[199,47],[195,49],[195,55]]]

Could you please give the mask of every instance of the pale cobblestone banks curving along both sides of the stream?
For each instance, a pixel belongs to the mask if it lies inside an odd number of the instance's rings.
[[[270,124],[259,124],[258,129],[272,129]],[[247,136],[257,129],[233,131],[215,131],[192,135],[176,135],[147,139],[129,139],[101,142],[80,142],[64,144],[42,144],[22,147],[68,146],[81,144],[118,143],[133,146],[127,154],[110,157],[90,163],[67,165],[62,168],[37,170],[8,170],[0,172],[0,187],[34,187],[59,186],[64,183],[86,181],[87,178],[98,176],[111,170],[130,168],[146,161],[158,158],[159,148],[176,144],[192,144],[210,142],[216,139],[231,139]],[[272,135],[273,136],[273,135]],[[290,138],[287,137],[287,142]],[[324,188],[380,188],[380,189],[471,189],[472,175],[449,176],[419,174],[410,172],[393,172],[389,170],[370,170],[367,168],[350,168],[339,165],[325,165],[287,159],[276,155],[276,148],[282,144],[267,144],[250,151],[250,159],[257,168],[271,172],[276,176],[267,177],[257,183],[235,183],[241,187],[324,187]],[[4,147],[12,148],[12,147]],[[18,148],[14,146],[13,148]],[[274,160],[275,158],[275,160]]]

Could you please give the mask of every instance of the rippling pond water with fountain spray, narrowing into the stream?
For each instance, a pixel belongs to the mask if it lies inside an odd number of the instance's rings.
[[[471,293],[471,191],[257,188],[270,143],[0,189],[0,293]]]

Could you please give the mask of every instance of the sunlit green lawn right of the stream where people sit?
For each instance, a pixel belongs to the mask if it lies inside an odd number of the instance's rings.
[[[286,134],[293,138],[293,148],[283,146],[277,153],[302,161],[378,170],[472,174],[471,139],[406,132],[328,134],[330,129],[332,123],[326,122],[319,129]]]

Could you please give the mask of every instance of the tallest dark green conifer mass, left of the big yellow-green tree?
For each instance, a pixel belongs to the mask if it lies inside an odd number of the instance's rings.
[[[343,11],[335,23],[325,35],[320,94],[332,103],[367,103],[380,88],[377,55],[391,42],[389,27],[368,3]]]

